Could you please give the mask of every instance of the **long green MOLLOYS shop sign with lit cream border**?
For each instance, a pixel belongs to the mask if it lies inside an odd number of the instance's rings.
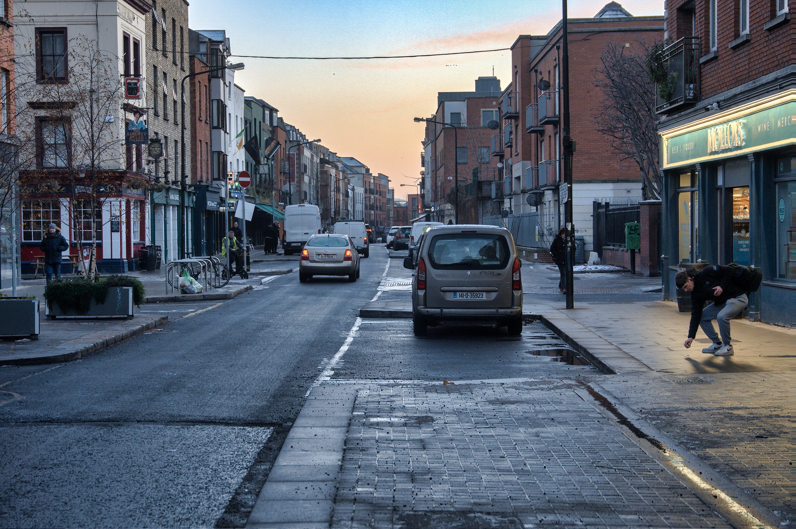
[[[721,117],[724,116],[724,120]],[[681,167],[794,143],[796,90],[661,133],[661,167]]]

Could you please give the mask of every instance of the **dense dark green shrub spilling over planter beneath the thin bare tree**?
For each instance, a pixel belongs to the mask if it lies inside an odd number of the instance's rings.
[[[63,312],[85,314],[92,300],[96,304],[103,303],[111,287],[131,287],[136,306],[146,300],[144,285],[131,276],[107,276],[96,281],[83,278],[51,281],[45,287],[45,299],[50,310],[57,305]]]

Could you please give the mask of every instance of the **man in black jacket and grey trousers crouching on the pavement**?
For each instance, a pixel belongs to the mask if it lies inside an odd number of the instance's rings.
[[[690,268],[685,272],[678,272],[675,276],[674,282],[677,288],[691,292],[689,337],[683,343],[686,349],[691,347],[696,337],[696,326],[699,325],[713,342],[711,346],[702,350],[703,353],[712,353],[716,356],[733,354],[730,320],[743,312],[749,304],[747,294],[734,279],[734,274],[735,268],[712,264],[700,272]],[[712,303],[703,308],[706,301]],[[712,319],[716,319],[719,323],[721,339],[713,328]]]

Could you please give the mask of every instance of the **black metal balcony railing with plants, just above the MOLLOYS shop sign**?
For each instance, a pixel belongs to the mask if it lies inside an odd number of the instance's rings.
[[[683,37],[663,49],[665,80],[655,85],[655,112],[663,114],[700,100],[699,37]]]

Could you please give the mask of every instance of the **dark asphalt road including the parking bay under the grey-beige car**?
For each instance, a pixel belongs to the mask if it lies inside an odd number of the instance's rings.
[[[0,368],[0,527],[242,525],[307,391],[354,335],[331,378],[599,376],[548,356],[562,344],[537,323],[521,338],[416,339],[409,319],[358,319],[383,277],[409,276],[383,246],[370,255],[354,284],[291,273],[234,300],[147,306],[174,320],[88,359]]]

